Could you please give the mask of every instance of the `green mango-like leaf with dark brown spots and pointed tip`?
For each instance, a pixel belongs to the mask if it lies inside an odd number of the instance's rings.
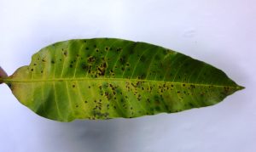
[[[56,121],[132,118],[217,104],[242,89],[223,71],[145,42],[56,42],[1,78],[38,115]]]

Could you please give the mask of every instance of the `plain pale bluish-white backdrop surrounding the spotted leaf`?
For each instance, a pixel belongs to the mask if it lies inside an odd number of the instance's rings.
[[[150,42],[218,67],[246,89],[220,104],[108,121],[50,121],[0,85],[1,152],[256,151],[256,1],[0,0],[0,65],[73,38]]]

